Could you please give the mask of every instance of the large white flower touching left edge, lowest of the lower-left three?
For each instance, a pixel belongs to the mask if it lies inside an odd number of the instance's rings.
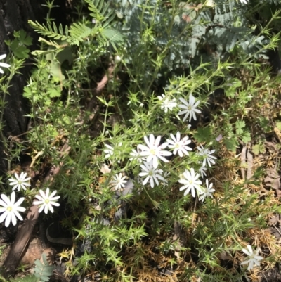
[[[20,204],[25,200],[25,198],[20,198],[18,202],[15,203],[15,191],[11,193],[11,200],[4,194],[1,194],[0,199],[0,212],[3,212],[0,216],[0,223],[4,222],[5,220],[5,226],[8,227],[10,225],[10,222],[12,220],[12,224],[17,224],[17,217],[20,220],[22,219],[22,216],[19,214],[19,212],[24,212],[25,207],[20,207]]]

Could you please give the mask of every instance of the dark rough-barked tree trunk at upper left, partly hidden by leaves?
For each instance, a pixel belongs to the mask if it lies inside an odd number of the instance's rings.
[[[0,54],[8,53],[4,40],[13,39],[13,32],[25,30],[36,44],[37,34],[28,25],[28,20],[41,22],[41,4],[44,0],[0,0]],[[35,45],[33,45],[34,49]],[[8,62],[7,62],[8,63]],[[11,82],[9,95],[6,95],[4,109],[4,128],[2,134],[5,138],[25,133],[27,129],[27,115],[29,106],[23,98],[23,86],[27,81],[30,65],[20,69],[21,74],[15,75]],[[3,93],[0,93],[3,96]],[[0,140],[0,175],[7,170],[6,153],[3,140]]]

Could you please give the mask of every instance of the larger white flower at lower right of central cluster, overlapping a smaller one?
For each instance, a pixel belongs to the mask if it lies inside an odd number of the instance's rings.
[[[200,187],[200,185],[202,184],[201,180],[198,180],[198,178],[200,177],[199,174],[195,173],[194,169],[190,169],[187,170],[185,169],[185,172],[183,172],[183,177],[185,179],[180,179],[178,180],[179,183],[181,184],[185,184],[184,186],[182,186],[180,188],[180,191],[185,190],[184,196],[188,195],[188,193],[191,190],[191,194],[193,197],[195,197],[195,189],[198,191],[198,193],[202,193],[202,189]]]

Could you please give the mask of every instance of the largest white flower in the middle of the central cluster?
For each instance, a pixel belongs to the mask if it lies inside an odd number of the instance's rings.
[[[167,150],[163,150],[166,146],[168,146],[167,142],[159,146],[161,136],[158,136],[157,139],[155,139],[154,135],[150,134],[149,140],[147,136],[145,136],[144,139],[148,146],[138,145],[138,148],[142,150],[140,155],[146,157],[146,162],[152,161],[153,167],[155,168],[158,167],[158,159],[163,160],[164,162],[169,162],[163,156],[171,155],[172,153]]]

